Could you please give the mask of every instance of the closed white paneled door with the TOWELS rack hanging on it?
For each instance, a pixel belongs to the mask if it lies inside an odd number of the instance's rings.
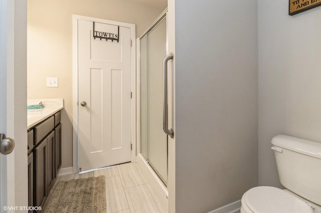
[[[131,160],[131,29],[78,20],[79,168]]]

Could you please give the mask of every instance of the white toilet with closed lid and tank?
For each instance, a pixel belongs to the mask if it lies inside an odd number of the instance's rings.
[[[251,188],[242,196],[241,213],[321,213],[321,143],[277,135],[272,144],[286,189]]]

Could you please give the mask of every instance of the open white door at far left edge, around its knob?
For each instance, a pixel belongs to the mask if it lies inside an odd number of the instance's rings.
[[[14,24],[15,3],[0,1],[0,133],[14,137]],[[9,36],[10,35],[10,36]],[[0,153],[0,212],[15,206],[15,150],[3,155]],[[10,210],[10,209],[9,209]]]

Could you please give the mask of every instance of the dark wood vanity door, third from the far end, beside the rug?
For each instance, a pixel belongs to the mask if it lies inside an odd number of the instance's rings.
[[[47,138],[35,148],[35,206],[43,206],[47,196]]]

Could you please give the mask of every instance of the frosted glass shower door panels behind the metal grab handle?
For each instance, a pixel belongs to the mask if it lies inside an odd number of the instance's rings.
[[[166,17],[140,38],[141,154],[167,184],[168,138],[163,131],[163,59]]]

